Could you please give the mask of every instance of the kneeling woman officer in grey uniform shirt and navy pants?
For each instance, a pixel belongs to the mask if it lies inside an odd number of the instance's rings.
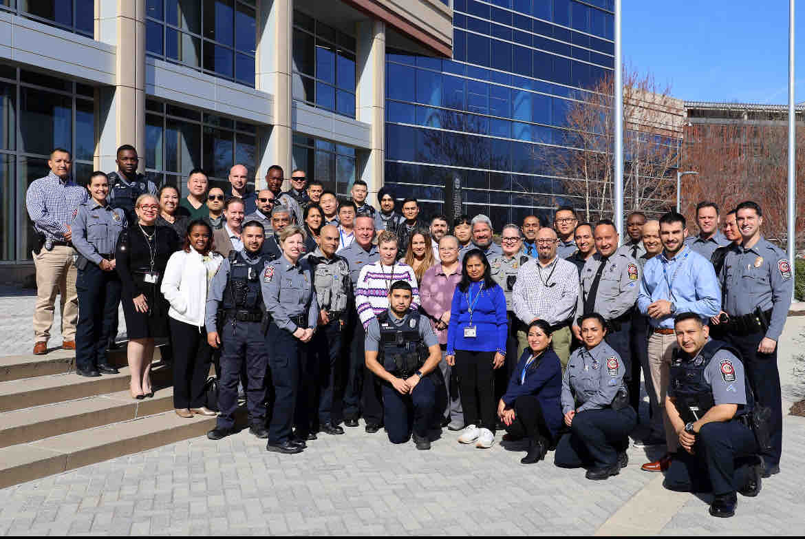
[[[580,319],[583,346],[570,355],[562,378],[562,413],[570,432],[556,446],[554,463],[588,466],[587,479],[607,479],[625,467],[637,413],[629,405],[621,357],[604,341],[604,317]]]

